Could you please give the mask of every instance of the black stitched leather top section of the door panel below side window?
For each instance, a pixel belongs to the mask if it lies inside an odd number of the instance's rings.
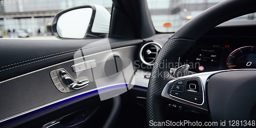
[[[56,63],[74,59],[74,53],[100,39],[86,40],[0,40],[0,81],[23,75]],[[142,43],[141,39],[122,40],[109,38],[111,48],[132,46]],[[104,51],[107,45],[97,44],[84,47],[88,54]]]

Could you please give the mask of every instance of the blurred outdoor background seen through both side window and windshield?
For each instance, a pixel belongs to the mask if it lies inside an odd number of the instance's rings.
[[[11,0],[5,0],[11,1]],[[57,39],[51,32],[54,15],[68,8],[97,4],[110,13],[111,0],[26,0],[18,6],[0,6],[2,38]],[[190,19],[224,0],[147,0],[154,27],[159,32],[176,32]],[[248,14],[232,20],[253,20]]]

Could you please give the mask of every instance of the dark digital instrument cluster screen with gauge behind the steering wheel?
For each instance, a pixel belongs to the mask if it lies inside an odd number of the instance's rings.
[[[189,71],[209,72],[256,68],[255,37],[201,37],[184,55],[180,65]]]

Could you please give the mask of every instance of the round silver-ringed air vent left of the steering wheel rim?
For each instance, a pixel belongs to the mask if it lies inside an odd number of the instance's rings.
[[[162,46],[158,42],[147,42],[140,49],[140,59],[148,66],[153,66]]]

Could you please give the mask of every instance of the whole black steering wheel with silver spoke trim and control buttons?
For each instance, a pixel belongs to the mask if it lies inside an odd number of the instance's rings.
[[[174,78],[170,69],[164,65],[178,60],[210,29],[232,18],[256,12],[255,5],[255,0],[224,1],[191,19],[168,39],[156,58],[148,83],[148,127],[157,127],[150,125],[150,121],[166,121],[166,99],[207,112],[212,121],[249,121],[254,116],[252,111],[256,108],[256,70],[225,70]]]

